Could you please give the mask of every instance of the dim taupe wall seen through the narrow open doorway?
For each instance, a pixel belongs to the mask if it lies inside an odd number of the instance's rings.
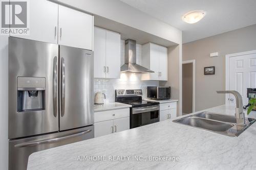
[[[182,112],[193,112],[193,63],[182,64]]]

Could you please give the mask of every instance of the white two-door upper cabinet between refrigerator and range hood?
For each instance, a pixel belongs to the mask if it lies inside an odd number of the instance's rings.
[[[94,28],[94,77],[120,78],[120,34]]]

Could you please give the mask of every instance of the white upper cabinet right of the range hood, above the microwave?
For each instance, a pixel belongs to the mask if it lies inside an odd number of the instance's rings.
[[[141,80],[167,81],[167,48],[153,43],[142,45],[142,66],[155,72],[142,74]]]

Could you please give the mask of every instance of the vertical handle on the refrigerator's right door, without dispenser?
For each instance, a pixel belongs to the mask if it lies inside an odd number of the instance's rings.
[[[65,61],[61,58],[61,117],[65,114]]]

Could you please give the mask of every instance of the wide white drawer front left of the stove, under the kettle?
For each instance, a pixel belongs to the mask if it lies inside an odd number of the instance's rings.
[[[94,123],[102,122],[105,120],[116,119],[116,118],[129,117],[129,116],[130,116],[130,108],[95,112]]]

